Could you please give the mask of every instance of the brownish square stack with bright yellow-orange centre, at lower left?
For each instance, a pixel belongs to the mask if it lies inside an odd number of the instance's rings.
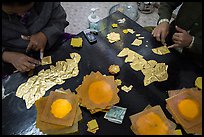
[[[44,134],[71,134],[82,119],[79,98],[71,90],[55,90],[35,102],[36,128]]]

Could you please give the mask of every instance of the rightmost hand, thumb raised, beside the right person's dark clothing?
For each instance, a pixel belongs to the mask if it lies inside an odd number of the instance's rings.
[[[172,40],[175,44],[169,46],[168,48],[184,48],[191,44],[192,36],[184,29],[176,26],[177,32],[174,33]]]

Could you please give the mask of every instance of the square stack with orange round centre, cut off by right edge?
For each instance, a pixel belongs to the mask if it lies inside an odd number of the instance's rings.
[[[202,91],[184,88],[168,91],[166,108],[186,133],[202,135]]]

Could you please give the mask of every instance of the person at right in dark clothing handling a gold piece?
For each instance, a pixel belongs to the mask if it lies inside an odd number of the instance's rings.
[[[180,5],[177,17],[169,23]],[[202,66],[202,2],[161,2],[158,14],[153,37],[169,48],[180,48],[182,54]]]

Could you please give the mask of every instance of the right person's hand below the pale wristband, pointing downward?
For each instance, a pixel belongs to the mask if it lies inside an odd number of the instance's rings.
[[[152,31],[153,37],[156,37],[156,40],[161,41],[162,43],[165,43],[165,39],[168,33],[169,33],[169,23],[168,22],[160,23]]]

